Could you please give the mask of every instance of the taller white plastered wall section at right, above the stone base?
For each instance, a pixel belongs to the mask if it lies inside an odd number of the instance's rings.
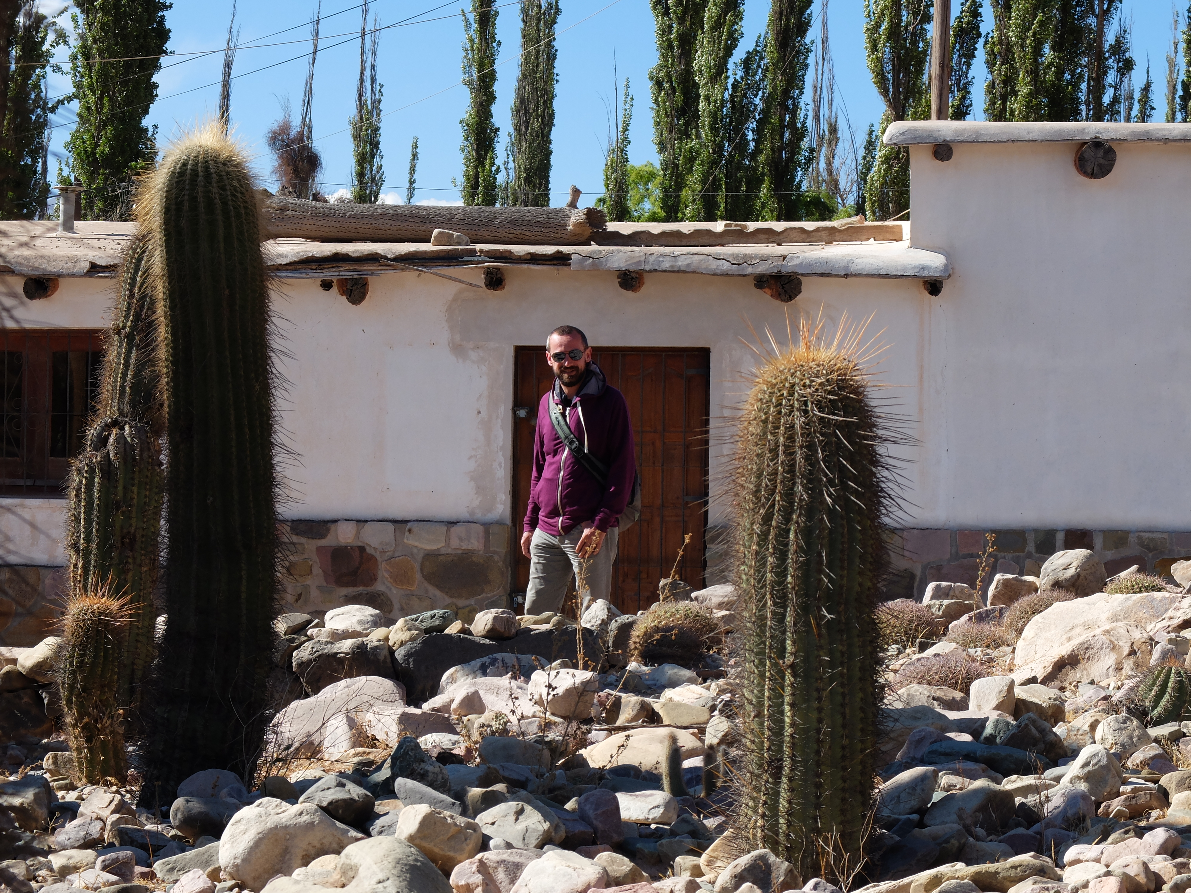
[[[912,499],[924,527],[1191,530],[1191,145],[911,149],[930,301]]]

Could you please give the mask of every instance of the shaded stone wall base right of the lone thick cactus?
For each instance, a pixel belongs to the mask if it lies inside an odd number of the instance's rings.
[[[996,574],[1036,576],[1042,563],[1066,549],[1090,549],[1109,576],[1137,564],[1170,575],[1171,564],[1191,558],[1191,532],[1133,530],[898,530],[890,531],[893,573],[887,599],[921,600],[934,582],[975,587],[985,535],[994,533],[992,562],[981,589]]]

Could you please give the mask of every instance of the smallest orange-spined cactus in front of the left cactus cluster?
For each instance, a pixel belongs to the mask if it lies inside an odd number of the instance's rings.
[[[57,680],[70,749],[85,783],[124,783],[127,778],[117,692],[129,616],[127,599],[95,581],[71,591],[67,600]]]

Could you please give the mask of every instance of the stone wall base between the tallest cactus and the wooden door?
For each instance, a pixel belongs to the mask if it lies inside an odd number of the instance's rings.
[[[506,607],[507,524],[289,522],[286,605],[320,617],[368,605],[397,620],[447,607],[469,623]]]

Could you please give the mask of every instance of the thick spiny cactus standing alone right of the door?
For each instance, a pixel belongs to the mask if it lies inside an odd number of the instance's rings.
[[[872,799],[890,498],[861,352],[858,330],[803,325],[798,345],[763,351],[738,427],[736,833],[804,878],[855,866]]]

